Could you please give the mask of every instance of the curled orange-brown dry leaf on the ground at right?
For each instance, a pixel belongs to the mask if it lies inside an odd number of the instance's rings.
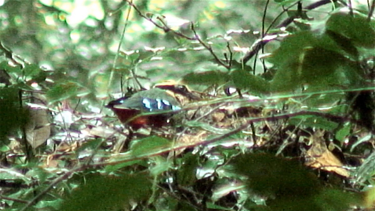
[[[338,175],[349,177],[350,173],[344,168],[344,164],[328,150],[321,131],[315,132],[310,137],[311,148],[306,152],[307,166],[335,172]]]

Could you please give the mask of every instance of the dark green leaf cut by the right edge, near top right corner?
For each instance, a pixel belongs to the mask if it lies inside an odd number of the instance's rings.
[[[364,48],[375,47],[375,22],[367,21],[365,15],[337,12],[327,20],[326,30],[350,39],[354,45]]]

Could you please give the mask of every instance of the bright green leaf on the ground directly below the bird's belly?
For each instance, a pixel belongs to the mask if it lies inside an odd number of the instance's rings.
[[[132,155],[135,157],[145,156],[147,154],[157,153],[158,151],[163,151],[170,148],[172,142],[168,139],[164,139],[157,136],[150,136],[144,139],[135,141],[130,146]]]

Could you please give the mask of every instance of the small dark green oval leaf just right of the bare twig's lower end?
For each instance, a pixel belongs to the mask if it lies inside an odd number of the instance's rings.
[[[239,89],[247,89],[252,93],[267,93],[270,89],[268,81],[264,80],[264,78],[242,69],[231,72],[231,78],[234,86]]]

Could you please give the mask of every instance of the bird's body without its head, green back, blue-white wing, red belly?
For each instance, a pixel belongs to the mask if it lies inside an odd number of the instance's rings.
[[[133,130],[141,127],[162,127],[172,115],[181,110],[181,104],[167,90],[153,88],[110,101],[105,107],[111,109],[118,119]],[[169,112],[166,112],[169,111]]]

